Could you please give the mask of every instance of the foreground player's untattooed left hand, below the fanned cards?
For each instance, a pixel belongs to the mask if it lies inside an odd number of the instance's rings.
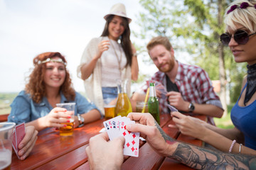
[[[86,154],[90,169],[121,169],[124,162],[124,137],[109,140],[107,132],[90,138]]]

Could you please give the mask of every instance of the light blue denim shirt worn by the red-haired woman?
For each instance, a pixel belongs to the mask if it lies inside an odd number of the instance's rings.
[[[60,103],[75,102],[75,115],[87,113],[92,109],[100,111],[94,103],[88,101],[78,92],[75,92],[75,101],[68,101],[62,93],[60,93],[60,96]],[[40,103],[36,103],[32,100],[30,94],[21,91],[11,103],[11,113],[8,116],[8,121],[16,124],[28,123],[46,116],[52,109],[53,107],[50,106],[46,96],[43,97]]]

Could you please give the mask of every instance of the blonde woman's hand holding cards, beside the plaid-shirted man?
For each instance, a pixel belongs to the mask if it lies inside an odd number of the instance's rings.
[[[206,121],[200,120],[198,118],[193,118],[189,115],[183,115],[179,112],[172,112],[174,123],[176,125],[168,125],[170,128],[177,128],[184,135],[196,137],[202,139],[203,132],[206,132]]]

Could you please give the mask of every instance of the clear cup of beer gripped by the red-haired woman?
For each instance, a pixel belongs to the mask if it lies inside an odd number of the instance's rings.
[[[75,103],[57,103],[57,107],[67,109],[67,113],[72,113],[69,123],[62,123],[67,125],[66,127],[60,128],[60,136],[73,135],[74,131],[74,118],[75,118]]]

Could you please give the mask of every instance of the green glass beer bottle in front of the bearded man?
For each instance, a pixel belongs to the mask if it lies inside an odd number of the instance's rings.
[[[150,83],[149,86],[149,101],[148,101],[149,113],[153,115],[156,122],[160,125],[160,115],[159,115],[159,102],[156,97],[156,89],[154,83]]]

